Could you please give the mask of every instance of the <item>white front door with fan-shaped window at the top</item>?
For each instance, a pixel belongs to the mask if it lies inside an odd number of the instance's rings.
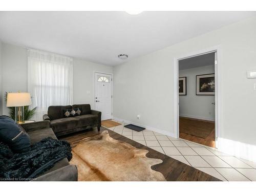
[[[95,110],[101,120],[112,118],[112,75],[95,73]]]

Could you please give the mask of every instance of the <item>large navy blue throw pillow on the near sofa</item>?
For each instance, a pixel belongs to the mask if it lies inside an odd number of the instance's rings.
[[[26,151],[31,145],[26,131],[8,116],[0,116],[0,140],[16,153]]]

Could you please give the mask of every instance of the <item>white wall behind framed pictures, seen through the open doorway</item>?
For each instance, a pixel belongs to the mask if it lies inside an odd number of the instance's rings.
[[[215,96],[196,95],[196,76],[215,73],[215,66],[203,66],[179,71],[179,77],[187,77],[187,95],[179,96],[179,115],[209,121],[215,120]],[[195,110],[197,109],[197,110]]]

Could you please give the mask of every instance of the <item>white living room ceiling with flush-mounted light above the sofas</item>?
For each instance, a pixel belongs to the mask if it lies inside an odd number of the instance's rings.
[[[3,42],[115,66],[256,12],[0,12]],[[118,54],[129,55],[121,60]]]

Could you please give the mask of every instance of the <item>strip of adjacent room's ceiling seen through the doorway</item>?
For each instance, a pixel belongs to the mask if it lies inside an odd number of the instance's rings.
[[[207,53],[179,60],[179,70],[214,65],[215,53]]]

